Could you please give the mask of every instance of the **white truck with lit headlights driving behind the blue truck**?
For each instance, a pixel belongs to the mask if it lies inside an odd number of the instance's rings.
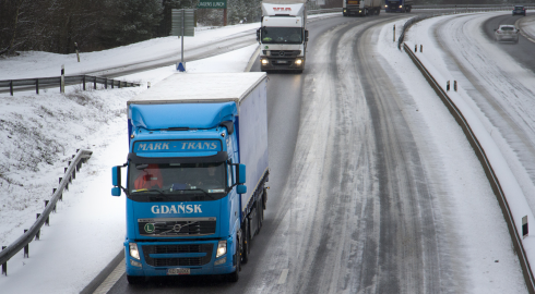
[[[305,0],[265,0],[262,2],[260,70],[302,73],[308,41]]]

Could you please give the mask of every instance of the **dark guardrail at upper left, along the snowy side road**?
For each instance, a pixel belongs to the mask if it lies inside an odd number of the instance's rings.
[[[139,87],[140,86],[140,84],[136,84],[136,83],[117,81],[117,79],[92,76],[92,75],[66,75],[64,76],[64,83],[66,83],[66,85],[67,84],[73,85],[73,84],[82,83],[84,90],[85,90],[86,83],[93,83],[94,89],[96,89],[96,84],[102,84],[102,85],[104,85],[105,88],[108,88],[108,85],[111,86],[111,88],[115,88],[116,86],[119,88]],[[13,91],[15,90],[16,87],[35,86],[35,93],[39,94],[39,87],[40,86],[49,86],[49,85],[60,86],[61,85],[61,76],[0,81],[0,88],[10,88],[11,96],[13,96]],[[25,88],[25,89],[27,89],[27,88]]]

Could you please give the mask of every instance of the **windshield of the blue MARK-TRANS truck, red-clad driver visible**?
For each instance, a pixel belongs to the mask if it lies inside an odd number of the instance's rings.
[[[131,163],[129,197],[136,201],[202,201],[224,197],[226,164]]]

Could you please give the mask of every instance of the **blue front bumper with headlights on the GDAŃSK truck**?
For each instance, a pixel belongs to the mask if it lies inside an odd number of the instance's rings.
[[[124,242],[128,275],[170,275],[169,269],[188,269],[189,275],[225,274],[236,270],[236,256],[233,255],[236,248],[231,238],[227,240],[227,253],[218,258],[218,241],[138,242],[139,259],[132,257],[130,243]]]

